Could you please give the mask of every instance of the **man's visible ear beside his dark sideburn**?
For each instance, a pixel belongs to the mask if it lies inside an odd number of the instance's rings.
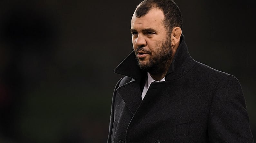
[[[171,38],[172,38],[172,48],[173,48],[174,53],[176,52],[176,50],[178,49],[178,47],[180,45],[181,34],[182,34],[182,30],[180,27],[173,28]]]

